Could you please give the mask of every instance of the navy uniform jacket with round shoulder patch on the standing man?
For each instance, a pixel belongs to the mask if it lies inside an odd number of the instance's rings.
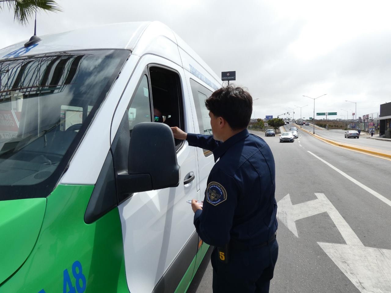
[[[247,129],[222,143],[213,136],[188,134],[189,145],[213,152],[203,209],[194,225],[207,244],[222,247],[229,241],[259,245],[277,230],[273,154],[265,141]]]

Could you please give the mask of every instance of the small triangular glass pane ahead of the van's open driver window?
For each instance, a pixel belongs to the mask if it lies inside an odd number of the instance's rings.
[[[148,77],[144,75],[135,96],[127,107],[129,117],[129,130],[132,130],[137,123],[151,122],[151,103],[149,99]]]

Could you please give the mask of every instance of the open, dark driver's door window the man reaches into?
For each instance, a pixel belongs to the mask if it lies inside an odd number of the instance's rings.
[[[176,71],[161,66],[150,66],[152,105],[155,122],[183,129],[182,87]],[[183,143],[175,140],[177,149]]]

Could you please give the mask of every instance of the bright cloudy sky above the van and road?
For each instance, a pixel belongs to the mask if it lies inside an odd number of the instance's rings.
[[[38,15],[38,35],[125,21],[159,20],[183,38],[220,76],[236,70],[236,84],[259,98],[264,118],[304,106],[301,116],[337,112],[349,119],[391,102],[391,2],[360,0],[57,0],[61,13]],[[389,4],[387,4],[389,3]],[[30,38],[0,10],[0,48]],[[291,111],[291,110],[289,110]],[[295,110],[300,116],[300,108]],[[318,118],[323,118],[319,116]]]

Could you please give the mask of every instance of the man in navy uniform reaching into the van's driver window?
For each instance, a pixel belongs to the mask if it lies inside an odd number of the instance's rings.
[[[227,86],[206,101],[213,136],[174,137],[213,152],[203,209],[192,200],[200,238],[213,245],[214,293],[269,292],[278,256],[274,158],[265,141],[249,134],[253,99]]]

